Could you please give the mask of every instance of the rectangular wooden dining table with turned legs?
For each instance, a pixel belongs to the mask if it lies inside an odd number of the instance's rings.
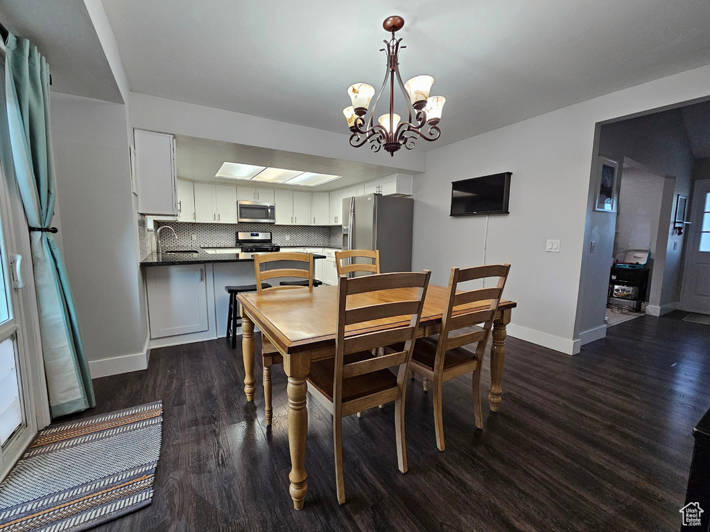
[[[392,289],[361,294],[360,304],[375,304],[403,299],[403,291]],[[447,287],[430,284],[422,311],[417,337],[431,336],[439,332],[442,312],[446,301]],[[372,300],[366,300],[371,297]],[[318,287],[316,289],[290,289],[266,292],[251,292],[237,296],[242,308],[242,355],[244,358],[244,394],[247,401],[253,401],[256,384],[254,381],[254,325],[261,334],[283,355],[283,367],[288,376],[288,445],[291,456],[289,492],[295,509],[302,509],[308,491],[305,467],[306,435],[308,412],[306,410],[306,377],[310,363],[315,360],[333,358],[335,353],[335,333],[338,316],[338,288]],[[503,362],[506,357],[506,325],[510,323],[510,312],[516,306],[514,301],[503,300],[498,305],[493,321],[493,345],[491,347],[491,387],[488,389],[488,403],[491,411],[501,406],[501,380]],[[457,307],[454,315],[476,309],[487,308],[481,301]],[[386,330],[407,326],[406,321],[371,321],[346,328],[346,335],[358,332]]]

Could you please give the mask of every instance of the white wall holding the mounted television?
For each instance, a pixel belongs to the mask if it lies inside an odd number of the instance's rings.
[[[709,94],[710,67],[702,67],[428,152],[427,172],[414,185],[415,270],[429,267],[432,282],[443,284],[450,267],[481,264],[485,218],[449,217],[451,182],[513,172],[510,214],[491,216],[486,250],[486,262],[512,265],[505,297],[518,308],[508,333],[578,351],[575,316],[583,260],[590,257],[585,228],[596,123]],[[611,235],[613,246],[613,228]],[[545,253],[548,238],[562,240],[559,254]]]

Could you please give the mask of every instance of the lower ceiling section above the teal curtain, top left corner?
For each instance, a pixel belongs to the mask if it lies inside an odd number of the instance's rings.
[[[53,91],[123,103],[83,0],[0,0],[0,22],[47,58]]]

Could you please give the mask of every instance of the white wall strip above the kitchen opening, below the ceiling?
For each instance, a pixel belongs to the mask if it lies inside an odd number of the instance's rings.
[[[384,150],[373,153],[367,147],[353,148],[348,142],[349,135],[343,133],[158,96],[131,92],[131,113],[133,127],[138,129],[367,162],[408,173],[423,172],[426,168],[426,155],[420,150],[400,150],[395,157],[390,157]]]

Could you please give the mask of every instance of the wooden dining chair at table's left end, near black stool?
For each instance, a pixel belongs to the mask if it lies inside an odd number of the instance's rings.
[[[274,268],[271,270],[261,270],[261,265],[273,264],[274,262],[303,262],[304,267],[296,268],[293,264],[288,265],[288,268]],[[313,289],[313,254],[299,252],[279,252],[279,253],[255,253],[254,254],[254,273],[256,274],[257,292],[267,292],[273,290],[290,290],[290,289]],[[307,279],[307,284],[303,285],[280,285],[272,287],[265,283],[266,279],[277,279],[278,277],[297,277],[298,279]],[[266,425],[271,425],[273,419],[273,408],[271,405],[271,366],[274,364],[283,364],[283,356],[278,352],[278,349],[266,338],[261,335],[261,361],[263,367],[263,386],[264,386],[264,417],[266,417]]]

